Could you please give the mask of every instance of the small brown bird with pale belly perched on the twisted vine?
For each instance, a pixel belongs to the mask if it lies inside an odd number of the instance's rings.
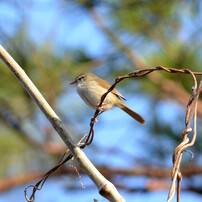
[[[105,80],[91,73],[84,73],[79,75],[71,84],[77,85],[78,94],[83,99],[83,101],[93,109],[97,108],[102,95],[106,93],[111,86]],[[132,109],[128,108],[126,104],[121,100],[121,98],[123,100],[126,100],[121,95],[121,93],[119,93],[116,89],[113,89],[110,93],[108,93],[107,97],[102,103],[101,110],[107,111],[112,109],[113,107],[119,107],[128,115],[133,117],[136,121],[144,124],[144,118],[138,113],[134,112]]]

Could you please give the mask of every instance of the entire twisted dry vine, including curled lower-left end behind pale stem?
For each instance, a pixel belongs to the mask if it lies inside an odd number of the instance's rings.
[[[194,81],[193,94],[190,97],[188,105],[187,105],[187,113],[186,113],[186,119],[185,119],[186,129],[182,133],[183,141],[175,149],[175,152],[173,154],[172,184],[171,184],[170,191],[169,191],[168,201],[170,201],[173,198],[174,194],[175,194],[176,181],[177,181],[177,184],[178,184],[178,186],[177,186],[178,187],[178,189],[177,189],[177,198],[178,198],[178,201],[179,201],[180,183],[181,183],[181,180],[182,180],[182,174],[180,172],[180,163],[181,163],[181,159],[182,159],[182,154],[183,154],[184,150],[186,150],[188,147],[194,145],[195,139],[196,139],[197,100],[198,100],[198,96],[199,96],[200,92],[202,91],[202,81],[200,82],[199,88],[197,90],[197,80],[196,80],[195,75],[202,75],[201,72],[192,72],[189,69],[175,69],[175,68],[166,68],[166,67],[163,67],[163,66],[157,66],[155,68],[137,70],[137,71],[131,72],[131,73],[125,75],[125,76],[118,77],[115,80],[114,84],[111,85],[111,87],[108,89],[108,91],[105,94],[102,95],[101,101],[100,101],[99,105],[97,106],[97,109],[95,110],[94,116],[91,118],[89,133],[84,135],[84,137],[79,142],[78,146],[81,149],[84,149],[86,146],[89,146],[92,143],[93,138],[94,138],[94,125],[95,125],[95,122],[96,122],[96,118],[102,113],[102,111],[100,111],[99,109],[102,106],[102,103],[104,102],[104,99],[106,98],[107,94],[110,93],[119,82],[121,82],[124,79],[128,79],[128,78],[143,77],[143,76],[146,76],[146,75],[148,75],[148,74],[150,74],[150,73],[152,73],[154,71],[160,71],[160,70],[163,70],[163,71],[168,72],[168,73],[190,74],[192,76],[192,78],[193,78],[193,81]],[[192,129],[190,128],[190,124],[191,124],[191,121],[192,121],[193,117],[194,117],[194,132],[193,132],[192,141],[190,142],[189,138],[188,138],[188,133],[192,131]],[[82,143],[82,141],[84,141],[84,142]],[[62,157],[61,161],[58,163],[58,165],[56,165],[54,168],[49,170],[42,177],[42,179],[40,181],[38,181],[35,185],[30,185],[30,186],[25,188],[25,197],[26,197],[27,201],[34,201],[36,191],[42,189],[42,187],[43,187],[45,181],[48,179],[48,177],[50,175],[52,175],[60,166],[62,166],[67,161],[71,160],[72,157],[73,157],[72,154],[69,154],[65,159],[63,159],[64,156],[65,155],[63,155],[63,157]],[[40,186],[40,188],[39,188],[39,186]],[[33,187],[33,191],[32,191],[32,194],[31,194],[30,198],[27,197],[27,189],[29,187]]]

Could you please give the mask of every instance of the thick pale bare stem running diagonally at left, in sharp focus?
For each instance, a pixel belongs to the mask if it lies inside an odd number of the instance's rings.
[[[53,127],[60,135],[64,143],[67,145],[72,155],[75,157],[78,164],[84,170],[84,172],[91,178],[96,184],[99,193],[110,201],[125,201],[123,197],[118,193],[112,183],[105,179],[100,172],[94,167],[89,161],[84,152],[77,146],[74,145],[71,136],[64,128],[62,121],[46,102],[44,97],[26,75],[24,70],[16,63],[16,61],[8,54],[8,52],[0,45],[0,57],[10,70],[15,74],[18,80],[21,82],[23,87],[27,90],[32,99],[40,107],[43,113],[46,115],[48,120],[52,123]]]

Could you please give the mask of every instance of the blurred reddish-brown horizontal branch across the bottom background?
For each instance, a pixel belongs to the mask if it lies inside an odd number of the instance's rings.
[[[96,168],[107,178],[114,179],[115,175],[120,176],[146,176],[149,178],[158,178],[158,179],[166,179],[171,176],[171,169],[162,168],[162,167],[154,167],[149,165],[138,165],[135,168],[130,169],[119,169],[119,168],[110,168],[106,166],[96,165]],[[77,167],[77,171],[79,174],[85,174],[80,167]],[[182,175],[184,177],[193,177],[196,175],[202,174],[202,167],[197,165],[184,166],[181,169]],[[78,175],[75,172],[75,169],[70,167],[61,167],[56,173],[56,176],[61,176],[64,174],[68,175]],[[37,180],[43,176],[43,173],[40,172],[30,172],[24,173],[20,175],[15,175],[12,177],[6,177],[1,179],[0,181],[0,192],[11,189],[14,186],[19,186],[22,184],[29,183],[30,181]],[[148,184],[146,187],[149,187]],[[169,187],[168,187],[169,188]],[[147,188],[148,190],[152,190],[151,188]]]

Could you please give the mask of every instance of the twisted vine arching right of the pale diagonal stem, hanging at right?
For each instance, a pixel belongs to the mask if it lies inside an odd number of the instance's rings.
[[[182,135],[183,135],[183,141],[182,143],[176,148],[175,152],[174,152],[174,165],[173,165],[173,171],[172,171],[172,184],[171,184],[171,188],[170,188],[170,192],[169,192],[169,196],[168,196],[168,201],[170,201],[174,194],[175,194],[175,183],[177,180],[177,184],[178,184],[178,195],[177,198],[179,200],[179,193],[180,193],[180,185],[181,185],[181,180],[182,180],[182,175],[180,172],[180,164],[181,164],[181,159],[182,159],[182,154],[183,151],[185,149],[187,149],[188,147],[191,147],[194,145],[195,140],[196,140],[196,113],[197,113],[197,101],[198,101],[198,96],[199,93],[201,92],[201,86],[202,86],[202,81],[200,83],[199,89],[197,90],[197,80],[195,78],[195,75],[202,75],[201,72],[192,72],[189,69],[175,69],[175,68],[166,68],[163,66],[157,66],[155,68],[149,68],[149,69],[142,69],[142,70],[137,70],[134,72],[131,72],[125,76],[122,77],[118,77],[114,84],[111,85],[111,87],[108,89],[108,91],[102,95],[101,97],[101,101],[99,103],[99,105],[97,106],[97,109],[94,113],[93,118],[91,119],[90,122],[90,131],[89,134],[87,136],[85,145],[91,144],[92,140],[93,140],[93,136],[94,136],[94,124],[95,124],[95,120],[96,118],[100,115],[100,111],[99,109],[102,106],[102,103],[104,102],[104,99],[106,98],[107,94],[110,93],[115,86],[121,82],[124,79],[127,78],[135,78],[135,77],[143,77],[146,76],[150,73],[152,73],[153,71],[157,71],[157,70],[163,70],[166,71],[168,73],[183,73],[183,74],[190,74],[191,77],[193,78],[194,81],[194,88],[193,88],[193,95],[190,97],[188,105],[187,105],[187,113],[186,113],[186,118],[185,118],[185,125],[186,125],[186,129],[185,131],[183,131]],[[191,120],[192,117],[194,117],[194,134],[193,134],[193,138],[191,141],[189,141],[188,138],[188,133],[191,132],[190,130],[190,124],[191,124]],[[175,158],[176,156],[176,158]]]

